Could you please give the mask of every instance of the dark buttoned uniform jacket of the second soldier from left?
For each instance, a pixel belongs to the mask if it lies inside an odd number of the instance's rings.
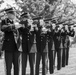
[[[28,23],[25,22],[25,25]],[[22,35],[22,51],[25,53],[34,53],[36,50],[36,36],[35,31],[29,31],[29,28],[20,28],[20,34]]]

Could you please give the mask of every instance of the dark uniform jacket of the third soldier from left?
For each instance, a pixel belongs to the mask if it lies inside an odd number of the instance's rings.
[[[36,32],[36,47],[39,53],[48,52],[47,34],[41,34],[40,30]]]

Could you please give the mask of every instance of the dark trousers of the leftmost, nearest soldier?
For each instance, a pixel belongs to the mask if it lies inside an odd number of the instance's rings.
[[[12,64],[14,65],[14,75],[19,75],[20,52],[5,51],[6,75],[11,75]]]

